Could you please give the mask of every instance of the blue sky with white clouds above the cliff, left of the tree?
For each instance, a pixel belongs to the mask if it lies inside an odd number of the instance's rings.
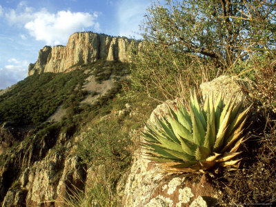
[[[150,0],[0,0],[0,89],[28,76],[43,46],[92,31],[140,39]]]

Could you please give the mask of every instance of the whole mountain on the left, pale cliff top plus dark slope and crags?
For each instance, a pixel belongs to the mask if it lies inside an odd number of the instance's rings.
[[[77,32],[67,46],[40,50],[29,77],[1,93],[0,206],[59,206],[72,189],[85,188],[88,165],[76,153],[80,134],[110,116],[127,81],[128,50],[137,46]],[[52,119],[60,109],[62,117]]]

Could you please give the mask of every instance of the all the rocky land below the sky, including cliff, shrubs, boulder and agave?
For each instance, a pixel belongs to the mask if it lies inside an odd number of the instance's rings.
[[[0,94],[1,206],[275,204],[274,53],[187,49],[169,31],[39,51]]]

